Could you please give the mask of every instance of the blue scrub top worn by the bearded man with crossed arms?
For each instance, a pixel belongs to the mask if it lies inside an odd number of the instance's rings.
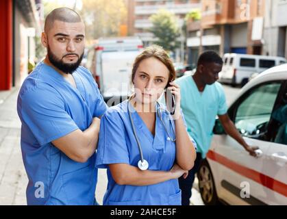
[[[28,205],[94,203],[95,154],[86,163],[78,163],[51,144],[76,129],[84,131],[93,117],[103,115],[108,108],[86,68],[79,66],[73,77],[77,88],[40,62],[18,94]]]

